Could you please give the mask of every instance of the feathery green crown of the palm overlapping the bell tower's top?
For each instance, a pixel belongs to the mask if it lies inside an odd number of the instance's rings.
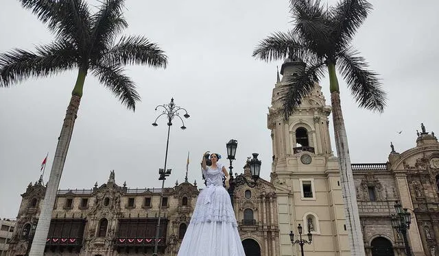
[[[386,93],[377,73],[368,70],[364,57],[351,46],[355,32],[371,10],[372,5],[364,0],[342,0],[330,8],[324,7],[320,0],[291,1],[294,29],[268,36],[253,52],[254,57],[265,61],[298,57],[307,63],[303,73],[287,79],[282,97],[285,117],[311,92],[314,81],[324,77],[325,67],[329,71],[331,92],[339,92],[335,75],[338,68],[360,107],[383,112]]]

